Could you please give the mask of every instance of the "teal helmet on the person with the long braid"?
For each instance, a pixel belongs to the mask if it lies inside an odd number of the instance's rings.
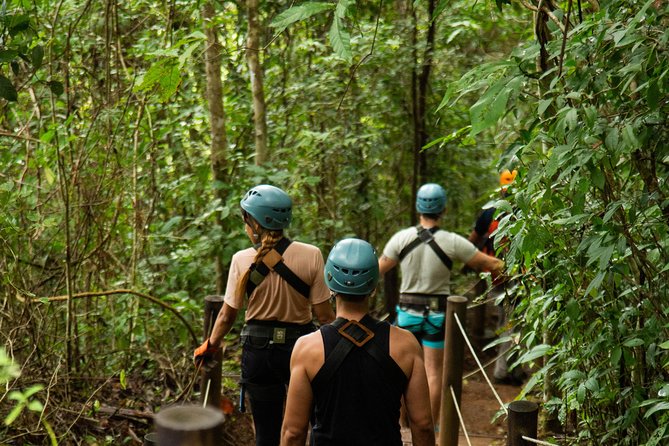
[[[279,230],[290,224],[293,201],[278,187],[256,186],[244,195],[239,205],[265,229]]]

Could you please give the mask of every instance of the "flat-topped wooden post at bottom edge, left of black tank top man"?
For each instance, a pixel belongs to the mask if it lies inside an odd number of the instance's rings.
[[[223,413],[211,407],[172,406],[155,416],[158,446],[215,446],[221,442]]]

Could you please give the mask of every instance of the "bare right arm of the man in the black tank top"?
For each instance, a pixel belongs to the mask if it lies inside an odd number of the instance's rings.
[[[413,338],[413,335],[411,335]],[[430,408],[430,392],[425,373],[423,353],[414,339],[407,342],[409,346],[408,355],[413,357],[409,382],[404,392],[409,425],[411,427],[411,440],[414,446],[433,446],[434,422],[432,420],[432,409]]]

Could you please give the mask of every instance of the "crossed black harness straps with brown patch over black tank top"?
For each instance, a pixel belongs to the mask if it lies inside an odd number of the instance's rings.
[[[407,377],[397,363],[390,357],[390,354],[381,350],[381,347],[374,342],[374,325],[376,320],[369,315],[365,315],[360,322],[349,321],[344,318],[337,318],[332,322],[341,338],[330,352],[325,363],[318,371],[316,379],[320,382],[330,382],[339,367],[342,365],[346,356],[354,347],[363,348],[384,370],[391,371],[389,376],[391,382],[403,386],[406,384]],[[314,384],[314,383],[312,383]]]

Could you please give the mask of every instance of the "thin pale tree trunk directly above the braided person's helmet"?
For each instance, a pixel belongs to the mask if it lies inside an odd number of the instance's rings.
[[[263,72],[260,65],[260,24],[258,21],[258,0],[247,0],[249,33],[246,39],[246,61],[251,76],[253,92],[253,122],[255,126],[256,165],[267,161],[267,120],[265,118],[265,92]]]

